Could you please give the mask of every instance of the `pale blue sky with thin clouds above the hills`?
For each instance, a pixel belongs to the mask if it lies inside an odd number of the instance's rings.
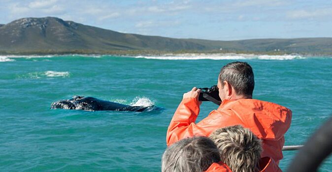
[[[332,0],[0,0],[0,24],[47,16],[172,38],[332,37]]]

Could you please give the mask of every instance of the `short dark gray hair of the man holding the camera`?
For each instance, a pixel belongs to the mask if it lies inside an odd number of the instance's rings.
[[[237,95],[252,96],[255,79],[251,66],[246,62],[235,61],[228,63],[220,70],[219,80],[224,87],[224,81],[230,83]]]

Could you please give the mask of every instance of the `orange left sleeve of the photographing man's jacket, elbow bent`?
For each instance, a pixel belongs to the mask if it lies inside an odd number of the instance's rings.
[[[168,126],[167,146],[184,138],[205,136],[204,129],[195,124],[198,115],[199,101],[195,98],[183,99]]]

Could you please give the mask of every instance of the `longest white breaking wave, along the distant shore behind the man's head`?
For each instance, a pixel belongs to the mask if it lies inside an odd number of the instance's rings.
[[[264,59],[264,60],[291,60],[305,59],[299,55],[247,55],[247,54],[183,54],[181,56],[136,56],[134,58],[161,59],[161,60],[237,60],[237,59]]]

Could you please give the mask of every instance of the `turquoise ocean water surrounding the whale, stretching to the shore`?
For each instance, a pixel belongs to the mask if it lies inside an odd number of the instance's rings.
[[[235,60],[252,65],[254,98],[293,111],[285,145],[303,144],[331,117],[332,57],[1,56],[0,171],[158,172],[182,94],[215,85],[220,68]],[[74,95],[163,110],[50,110],[52,102]],[[203,102],[197,121],[216,108]],[[296,153],[284,152],[283,170]],[[331,157],[320,171],[332,171]]]

